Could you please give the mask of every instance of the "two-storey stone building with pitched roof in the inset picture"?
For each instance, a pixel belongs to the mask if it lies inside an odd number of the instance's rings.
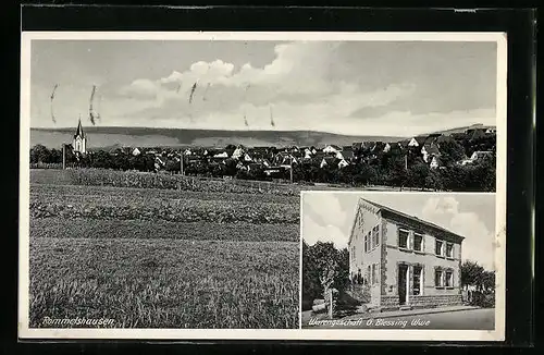
[[[374,308],[460,305],[462,240],[361,198],[349,235],[349,272],[363,276]]]

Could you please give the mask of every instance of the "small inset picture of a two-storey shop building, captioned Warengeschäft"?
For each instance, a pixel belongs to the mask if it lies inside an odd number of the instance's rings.
[[[495,194],[305,192],[301,327],[494,330]]]

